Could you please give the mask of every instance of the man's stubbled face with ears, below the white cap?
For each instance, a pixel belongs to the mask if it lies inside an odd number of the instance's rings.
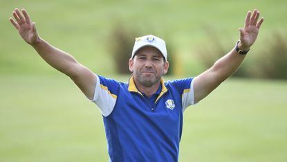
[[[129,60],[129,70],[136,82],[145,87],[151,87],[167,73],[169,63],[164,61],[163,55],[154,47],[143,47],[138,50],[133,59]]]

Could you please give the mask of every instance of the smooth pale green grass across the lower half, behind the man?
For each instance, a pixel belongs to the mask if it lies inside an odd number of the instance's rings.
[[[0,161],[108,161],[100,111],[66,76],[1,75],[0,89]],[[185,111],[180,161],[286,161],[286,91],[224,82]]]

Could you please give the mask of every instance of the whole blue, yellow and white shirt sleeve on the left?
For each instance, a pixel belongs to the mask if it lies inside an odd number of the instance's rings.
[[[92,102],[99,108],[103,116],[109,116],[118,98],[119,83],[115,80],[96,75],[95,93]]]

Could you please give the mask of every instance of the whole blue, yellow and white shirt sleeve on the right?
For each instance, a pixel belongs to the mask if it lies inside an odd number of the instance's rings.
[[[181,95],[181,103],[183,111],[189,106],[194,105],[194,80],[193,78],[185,78],[181,80],[174,80],[172,84],[178,90]]]

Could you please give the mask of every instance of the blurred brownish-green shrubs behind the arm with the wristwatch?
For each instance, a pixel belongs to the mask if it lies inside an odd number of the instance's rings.
[[[209,68],[223,56],[223,53],[230,51],[230,48],[226,48],[232,46],[230,43],[235,46],[236,42],[223,42],[221,37],[216,35],[216,32],[211,28],[206,28],[206,32],[209,35],[210,42],[208,46],[202,46],[196,55],[198,55],[205,68]],[[243,62],[238,71],[232,76],[287,79],[287,36],[276,30],[267,39],[263,39],[263,42],[264,44],[259,45],[260,49],[257,49],[257,51],[252,51],[252,47],[250,48],[250,52],[247,54],[250,55],[249,58]]]

